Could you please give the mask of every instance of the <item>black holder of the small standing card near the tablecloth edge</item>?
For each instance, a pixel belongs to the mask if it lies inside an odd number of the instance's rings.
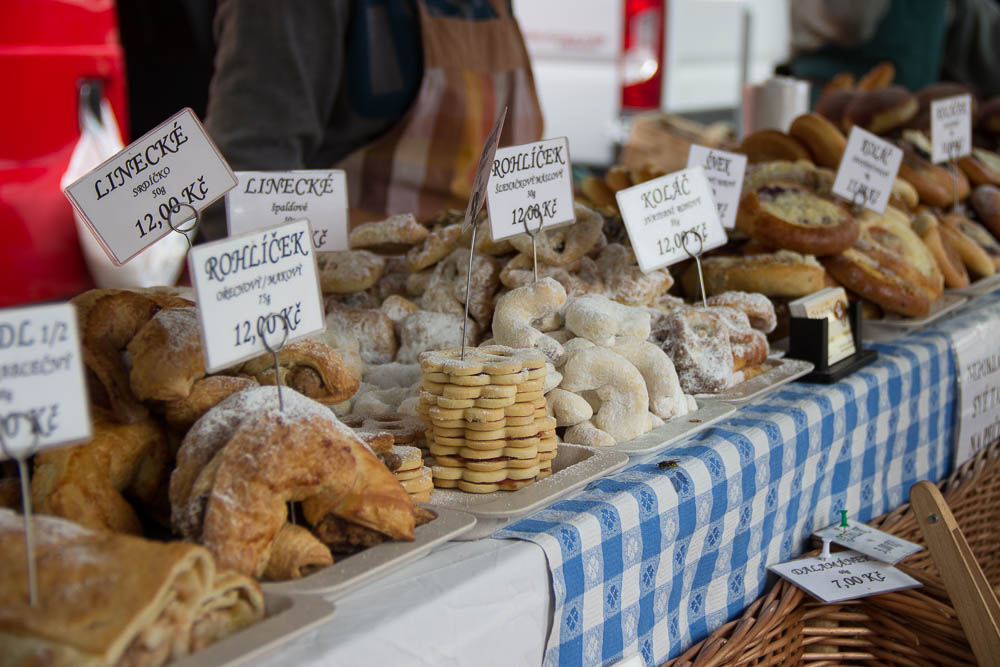
[[[792,359],[804,359],[816,367],[809,375],[799,378],[800,382],[833,384],[878,359],[877,351],[861,346],[861,302],[851,301],[847,308],[847,314],[851,322],[851,335],[854,337],[856,351],[835,364],[827,362],[829,355],[827,329],[830,324],[827,319],[825,317],[821,319],[793,317],[791,319],[787,356]]]

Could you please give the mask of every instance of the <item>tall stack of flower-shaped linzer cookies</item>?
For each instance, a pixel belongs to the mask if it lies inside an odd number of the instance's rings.
[[[514,491],[544,474],[543,468],[551,474],[556,423],[545,408],[540,352],[501,345],[469,348],[465,359],[458,349],[425,352],[420,366],[418,412],[435,486]]]

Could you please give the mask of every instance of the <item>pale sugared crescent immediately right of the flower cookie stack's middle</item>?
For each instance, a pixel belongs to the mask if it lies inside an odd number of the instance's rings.
[[[570,357],[563,368],[562,388],[596,390],[601,408],[594,415],[594,425],[618,442],[650,429],[646,381],[635,366],[611,350],[594,346]]]

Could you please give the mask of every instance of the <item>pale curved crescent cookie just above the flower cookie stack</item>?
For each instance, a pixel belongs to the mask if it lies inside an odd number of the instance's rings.
[[[558,312],[564,303],[566,290],[552,278],[507,292],[497,299],[493,313],[494,340],[515,348],[538,348],[559,366],[564,356],[562,345],[535,328],[535,323]]]

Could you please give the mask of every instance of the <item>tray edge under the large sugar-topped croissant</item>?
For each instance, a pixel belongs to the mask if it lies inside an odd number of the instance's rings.
[[[468,512],[426,505],[437,518],[414,531],[412,542],[382,542],[350,556],[334,556],[333,565],[301,579],[261,584],[265,592],[315,594],[336,600],[375,579],[423,558],[431,549],[472,530],[476,517]]]

